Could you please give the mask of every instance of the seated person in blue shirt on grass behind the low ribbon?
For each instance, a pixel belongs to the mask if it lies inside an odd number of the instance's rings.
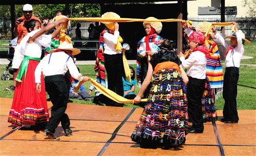
[[[130,70],[131,70],[131,82],[129,82],[129,80],[124,79],[122,77],[122,81],[123,81],[123,97],[126,99],[134,99],[136,97],[136,95],[133,93],[135,91],[135,85],[137,83],[137,81],[134,80],[135,78],[135,71],[132,68],[132,66],[129,66]]]

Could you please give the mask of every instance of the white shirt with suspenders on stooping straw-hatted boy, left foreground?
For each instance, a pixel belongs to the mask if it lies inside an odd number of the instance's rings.
[[[50,57],[51,59],[49,62]],[[69,70],[71,76],[74,79],[82,81],[83,77],[78,72],[74,61],[71,57],[67,61],[68,57],[69,55],[67,55],[65,52],[55,52],[52,53],[52,55],[48,54],[47,56],[45,56],[35,69],[35,83],[41,83],[41,71],[44,76],[52,76],[60,74],[64,75]]]

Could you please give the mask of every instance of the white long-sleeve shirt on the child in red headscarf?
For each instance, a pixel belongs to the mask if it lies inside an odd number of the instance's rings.
[[[187,76],[205,79],[207,58],[204,53],[195,51],[187,59],[182,56],[180,60],[182,61],[183,68],[187,69]]]

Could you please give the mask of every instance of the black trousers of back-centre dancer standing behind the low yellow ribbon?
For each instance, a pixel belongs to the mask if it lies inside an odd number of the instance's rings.
[[[116,94],[123,96],[124,67],[122,54],[108,55],[104,54],[105,69],[108,74],[108,89]],[[112,102],[115,106],[123,106],[123,104]]]

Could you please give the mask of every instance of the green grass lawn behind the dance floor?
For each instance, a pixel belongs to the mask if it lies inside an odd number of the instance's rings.
[[[1,42],[0,42],[1,44]],[[245,47],[245,53],[246,56],[252,56],[251,59],[243,59],[241,60],[242,64],[256,64],[255,61],[255,49],[256,49],[256,42],[252,42],[251,44],[246,44]],[[133,66],[134,69],[136,69],[136,64],[130,64]],[[1,75],[5,71],[5,64],[0,64],[0,73]],[[91,78],[95,77],[94,72],[94,64],[89,65],[77,65],[77,67],[80,69],[80,72],[83,76],[88,76]],[[223,71],[225,71],[224,62],[223,62]],[[256,66],[253,65],[241,65],[240,66],[240,77],[238,81],[238,97],[237,97],[237,103],[238,103],[238,110],[248,110],[248,109],[256,109],[256,98],[255,98],[255,91],[256,91],[256,80],[255,80],[255,71]],[[11,78],[13,76],[11,75]],[[0,86],[0,97],[1,98],[13,98],[13,91],[7,91],[5,88],[12,85],[13,80],[10,79],[8,81],[0,80],[1,86]],[[90,81],[84,83],[84,87],[89,92],[89,87],[91,83]],[[138,94],[139,89],[136,87],[135,94]],[[95,94],[93,92],[92,96],[94,97]],[[84,100],[77,100],[77,99],[70,99],[70,103],[80,103],[80,104],[91,104],[95,105],[93,102],[88,102]],[[222,98],[222,95],[219,99],[216,100],[216,107],[218,110],[222,110],[224,106],[224,99]],[[125,103],[124,107],[133,107],[137,108],[139,106],[132,105],[131,103]]]

